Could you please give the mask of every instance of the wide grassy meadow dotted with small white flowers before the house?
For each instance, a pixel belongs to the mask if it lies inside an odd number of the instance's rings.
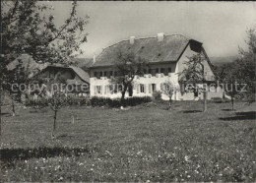
[[[254,106],[71,107],[58,113],[56,139],[51,110],[12,117],[3,107],[0,181],[256,181]]]

